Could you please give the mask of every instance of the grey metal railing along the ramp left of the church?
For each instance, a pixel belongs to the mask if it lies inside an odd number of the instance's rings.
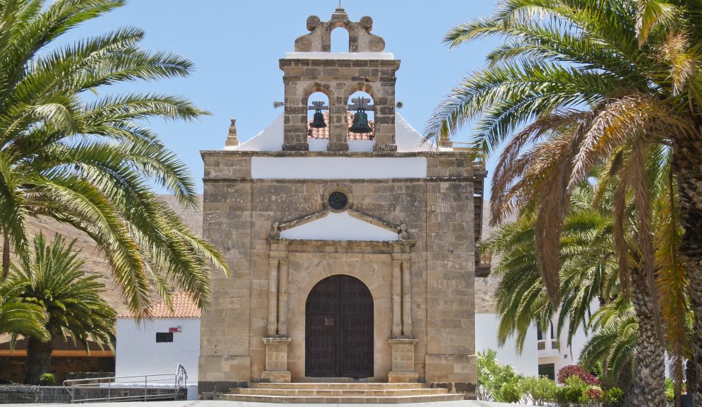
[[[64,380],[63,387],[71,395],[71,403],[87,401],[147,401],[178,399],[187,391],[188,374],[182,365],[176,372],[139,376],[96,377]]]

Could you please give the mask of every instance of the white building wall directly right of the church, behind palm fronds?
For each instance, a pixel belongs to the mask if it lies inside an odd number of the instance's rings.
[[[514,369],[527,376],[536,376],[539,372],[539,358],[536,348],[536,326],[529,328],[524,352],[517,355],[515,338],[508,338],[500,348],[497,344],[497,314],[475,314],[475,350],[479,352],[488,348],[497,351],[497,360],[503,365],[512,365]]]

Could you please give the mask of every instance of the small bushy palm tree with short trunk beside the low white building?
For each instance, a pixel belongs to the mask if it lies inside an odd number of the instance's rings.
[[[32,260],[12,264],[6,287],[15,290],[21,304],[38,306],[46,315],[48,338],[29,335],[25,383],[38,384],[51,367],[52,341],[70,337],[88,349],[88,340],[113,346],[117,312],[100,297],[105,285],[99,275],[82,271],[84,260],[60,234],[51,243],[42,234],[34,238]],[[16,335],[14,336],[16,338]]]

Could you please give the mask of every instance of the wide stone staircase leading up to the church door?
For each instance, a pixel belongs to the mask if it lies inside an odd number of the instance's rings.
[[[252,383],[215,394],[215,400],[260,403],[428,403],[463,400],[463,394],[424,383]]]

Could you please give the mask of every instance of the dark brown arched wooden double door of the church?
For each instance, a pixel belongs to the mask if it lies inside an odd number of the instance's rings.
[[[307,297],[305,375],[373,376],[373,297],[361,280],[333,275]]]

